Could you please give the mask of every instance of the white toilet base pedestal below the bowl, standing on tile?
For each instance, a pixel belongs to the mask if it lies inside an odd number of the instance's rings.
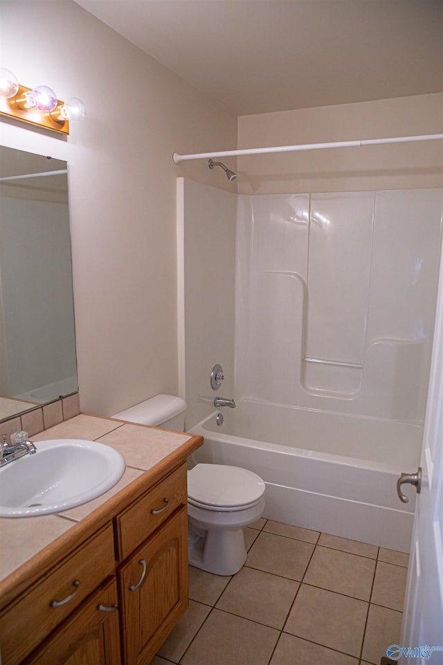
[[[207,531],[206,538],[189,526],[189,564],[215,575],[234,575],[246,561],[243,529]]]

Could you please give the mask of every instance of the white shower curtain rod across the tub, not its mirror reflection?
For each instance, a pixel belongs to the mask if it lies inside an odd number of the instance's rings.
[[[396,136],[391,139],[361,139],[359,141],[332,141],[331,143],[305,143],[302,145],[276,145],[274,148],[247,148],[246,150],[224,150],[222,152],[196,152],[179,154],[174,152],[174,163],[188,159],[206,157],[237,157],[241,154],[266,154],[267,152],[296,152],[298,150],[325,150],[327,148],[360,148],[362,145],[380,145],[381,143],[410,143],[411,141],[436,141],[443,139],[443,134],[425,134],[424,136]]]

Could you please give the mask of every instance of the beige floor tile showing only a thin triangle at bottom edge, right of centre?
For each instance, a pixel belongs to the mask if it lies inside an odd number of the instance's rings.
[[[358,665],[359,660],[282,632],[270,665]]]

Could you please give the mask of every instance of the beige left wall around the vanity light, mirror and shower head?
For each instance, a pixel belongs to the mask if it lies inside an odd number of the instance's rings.
[[[0,125],[3,145],[69,162],[82,410],[177,393],[176,177],[232,185],[172,153],[235,148],[237,119],[70,0],[2,1],[1,60],[87,107],[67,140]]]

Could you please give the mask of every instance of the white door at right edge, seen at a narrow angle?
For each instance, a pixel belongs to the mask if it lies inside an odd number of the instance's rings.
[[[399,662],[443,665],[443,252],[421,465]]]

